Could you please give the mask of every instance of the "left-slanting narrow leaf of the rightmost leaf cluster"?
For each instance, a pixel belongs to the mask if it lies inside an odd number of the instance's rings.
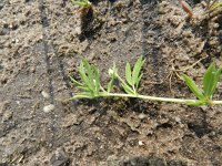
[[[189,89],[195,94],[195,96],[200,100],[204,100],[204,95],[201,92],[201,90],[198,87],[195,82],[188,75],[183,75],[183,80],[185,81],[185,84],[189,86]]]

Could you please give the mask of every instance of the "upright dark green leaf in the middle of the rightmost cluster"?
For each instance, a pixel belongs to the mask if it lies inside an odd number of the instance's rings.
[[[215,73],[215,63],[211,63],[203,76],[203,92],[205,97],[210,97],[211,90],[213,86],[214,81],[214,73]]]

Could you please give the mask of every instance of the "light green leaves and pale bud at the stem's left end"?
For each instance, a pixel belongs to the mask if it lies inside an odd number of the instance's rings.
[[[79,66],[81,82],[70,76],[74,85],[82,91],[81,93],[75,94],[73,98],[93,98],[102,96],[102,94],[109,94],[113,90],[115,80],[119,80],[121,82],[122,89],[128,94],[137,94],[137,90],[142,77],[140,71],[143,63],[144,60],[142,56],[138,59],[135,65],[133,66],[133,70],[131,70],[130,64],[127,63],[125,81],[120,77],[120,75],[118,74],[118,69],[115,64],[113,64],[112,69],[109,69],[110,82],[108,83],[107,90],[104,90],[100,83],[100,72],[98,68],[89,64],[87,60],[82,60]]]

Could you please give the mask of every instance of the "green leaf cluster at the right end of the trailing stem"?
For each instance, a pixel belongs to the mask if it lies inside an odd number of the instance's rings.
[[[211,63],[203,76],[203,90],[200,89],[195,82],[188,75],[183,75],[189,89],[195,94],[200,100],[198,103],[189,103],[190,105],[211,105],[213,94],[215,92],[222,68],[216,69],[215,63]]]

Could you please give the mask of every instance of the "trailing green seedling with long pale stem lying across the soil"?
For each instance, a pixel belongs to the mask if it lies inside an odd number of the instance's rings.
[[[144,60],[142,56],[138,59],[133,68],[131,68],[130,63],[127,63],[124,74],[125,79],[122,79],[119,75],[118,69],[115,64],[113,64],[113,66],[109,69],[109,75],[111,79],[105,90],[100,83],[100,72],[98,68],[89,64],[87,60],[82,60],[79,66],[81,81],[77,81],[72,76],[70,76],[71,81],[79,90],[81,90],[81,92],[77,93],[71,100],[95,97],[137,97],[149,101],[173,102],[193,106],[212,106],[215,104],[222,104],[222,101],[213,101],[213,94],[215,92],[216,84],[222,72],[222,68],[216,69],[215,63],[212,63],[209,66],[203,76],[203,90],[200,89],[190,76],[185,74],[183,75],[184,82],[186,83],[191,92],[194,93],[196,100],[158,97],[139,94],[138,87],[142,77],[141,69],[143,64]],[[118,80],[121,83],[121,87],[124,90],[125,93],[112,93],[114,80]]]

